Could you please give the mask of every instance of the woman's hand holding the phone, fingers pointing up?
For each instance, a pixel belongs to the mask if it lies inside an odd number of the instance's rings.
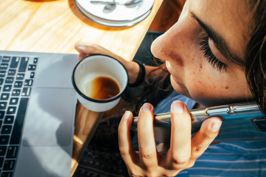
[[[138,152],[134,150],[130,138],[132,113],[126,111],[120,121],[119,149],[132,177],[174,177],[180,171],[192,167],[218,135],[222,124],[220,118],[208,118],[191,138],[189,111],[184,103],[174,101],[171,105],[170,148],[166,154],[160,154],[155,144],[153,117],[153,106],[145,103],[138,115]]]

